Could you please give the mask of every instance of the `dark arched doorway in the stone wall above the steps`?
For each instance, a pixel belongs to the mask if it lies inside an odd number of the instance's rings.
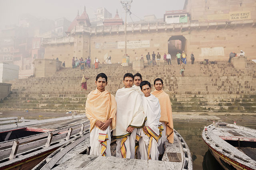
[[[168,39],[168,53],[172,59],[176,58],[177,52],[182,53],[185,51],[186,38],[182,35],[173,35]]]

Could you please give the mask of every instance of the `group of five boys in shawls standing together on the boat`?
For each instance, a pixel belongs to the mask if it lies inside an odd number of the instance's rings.
[[[142,81],[140,73],[124,74],[124,87],[114,97],[105,87],[108,77],[96,76],[96,89],[86,100],[90,120],[90,154],[111,156],[110,143],[116,139],[116,157],[158,160],[164,142],[174,142],[172,107],[161,78]],[[134,84],[134,85],[133,85]]]

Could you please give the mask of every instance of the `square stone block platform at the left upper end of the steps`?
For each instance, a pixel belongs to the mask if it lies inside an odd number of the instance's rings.
[[[35,77],[50,77],[61,68],[61,61],[52,59],[36,59],[34,61]]]

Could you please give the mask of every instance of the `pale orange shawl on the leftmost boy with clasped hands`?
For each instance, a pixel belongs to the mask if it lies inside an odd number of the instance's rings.
[[[86,117],[90,120],[90,130],[95,126],[96,121],[107,121],[112,119],[111,129],[116,129],[116,100],[107,90],[100,92],[96,89],[87,96],[85,105]]]

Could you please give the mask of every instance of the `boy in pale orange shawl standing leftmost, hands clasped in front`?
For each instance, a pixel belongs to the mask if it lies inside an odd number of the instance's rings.
[[[111,156],[111,132],[116,128],[116,100],[105,90],[108,77],[104,73],[96,76],[96,90],[88,94],[86,100],[86,116],[90,120],[90,154]]]

